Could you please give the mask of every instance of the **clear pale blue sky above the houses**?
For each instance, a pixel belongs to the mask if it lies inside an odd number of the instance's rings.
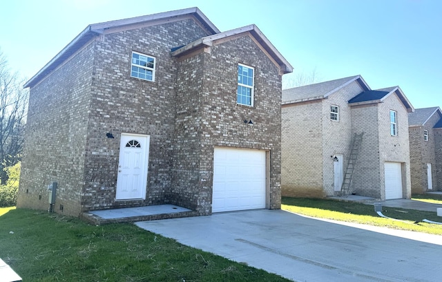
[[[90,23],[195,6],[221,31],[255,23],[295,73],[362,75],[373,89],[400,86],[415,108],[442,106],[439,0],[10,0],[0,48],[30,78]]]

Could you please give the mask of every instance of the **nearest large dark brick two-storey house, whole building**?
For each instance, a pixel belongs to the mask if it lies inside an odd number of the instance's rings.
[[[281,78],[254,26],[198,8],[88,26],[27,83],[17,207],[280,208]]]

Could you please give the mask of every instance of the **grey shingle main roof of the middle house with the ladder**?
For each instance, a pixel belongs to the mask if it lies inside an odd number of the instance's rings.
[[[338,91],[340,88],[343,88],[347,84],[354,82],[356,79],[360,79],[363,87],[369,90],[369,86],[365,83],[361,75],[355,75],[352,77],[330,80],[329,82],[320,82],[306,86],[284,89],[282,90],[282,104],[323,99]]]

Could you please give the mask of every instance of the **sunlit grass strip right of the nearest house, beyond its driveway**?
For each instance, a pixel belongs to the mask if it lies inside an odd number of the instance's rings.
[[[427,196],[427,198],[428,197],[431,196]],[[382,213],[385,216],[405,221],[401,222],[381,218],[374,212],[373,205],[340,202],[336,200],[287,197],[282,197],[281,208],[289,212],[316,218],[327,218],[351,223],[362,223],[392,229],[442,235],[442,225],[421,222],[423,219],[442,222],[442,218],[437,216],[436,212],[421,212],[414,209],[383,207]]]

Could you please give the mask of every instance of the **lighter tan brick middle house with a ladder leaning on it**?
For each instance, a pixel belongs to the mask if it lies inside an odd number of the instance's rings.
[[[360,75],[283,90],[282,195],[342,194],[352,140],[363,133],[347,194],[410,198],[411,111],[401,88],[372,91]]]

